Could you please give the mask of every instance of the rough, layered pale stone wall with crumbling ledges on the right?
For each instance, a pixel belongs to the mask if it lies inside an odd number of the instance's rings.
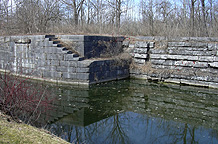
[[[145,37],[129,48],[132,77],[218,88],[218,38]]]

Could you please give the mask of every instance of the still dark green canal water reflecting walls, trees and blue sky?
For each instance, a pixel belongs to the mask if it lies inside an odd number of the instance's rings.
[[[218,143],[216,89],[128,79],[47,90],[53,108],[38,121],[69,142]]]

